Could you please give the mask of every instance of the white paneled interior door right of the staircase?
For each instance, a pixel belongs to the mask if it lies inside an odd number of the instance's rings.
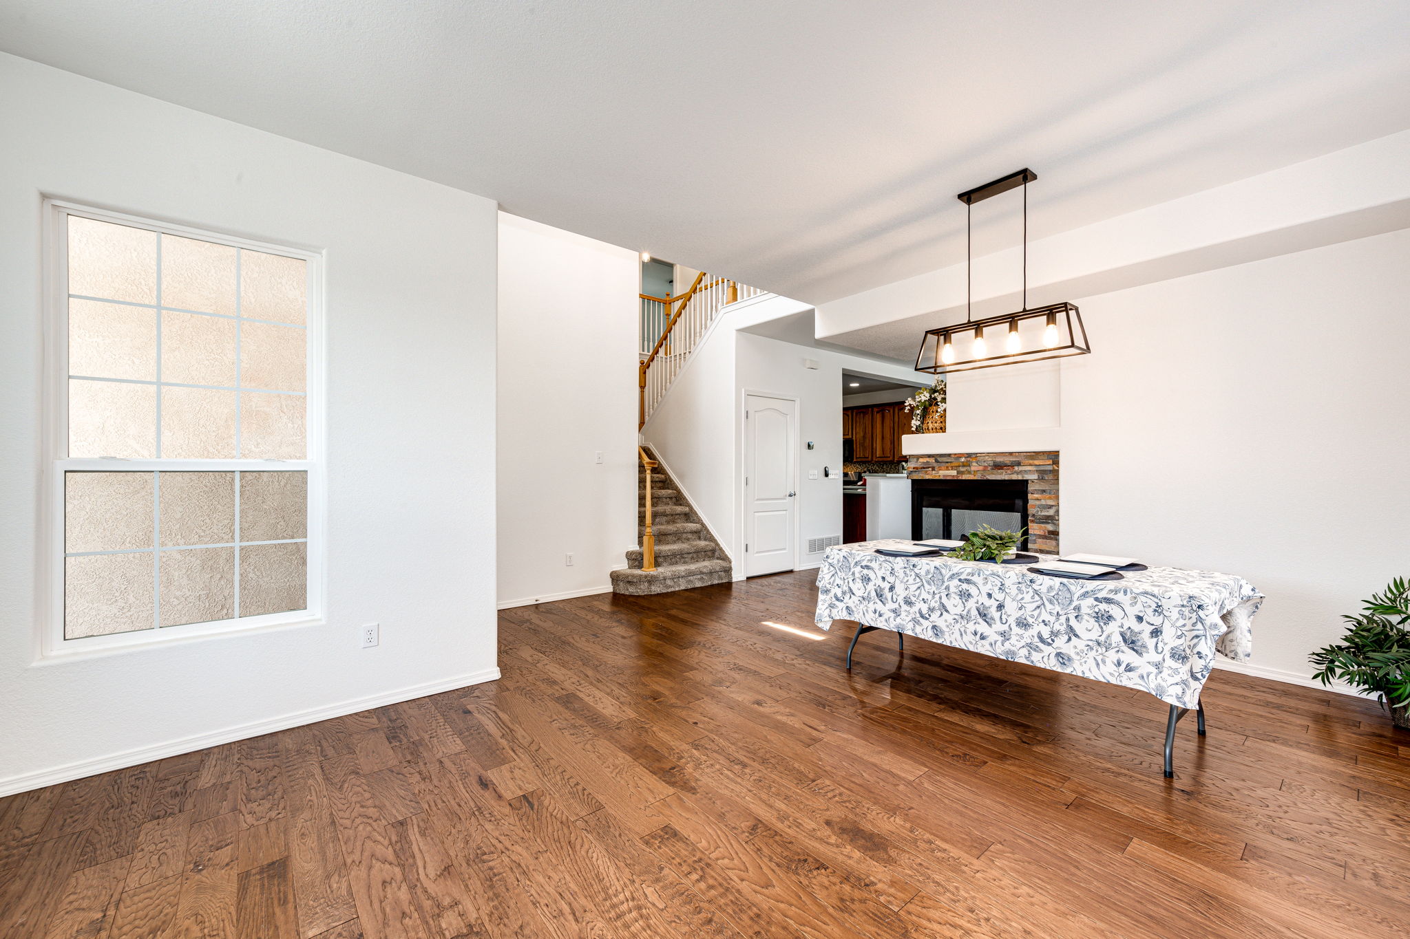
[[[794,569],[797,403],[744,398],[744,574]]]

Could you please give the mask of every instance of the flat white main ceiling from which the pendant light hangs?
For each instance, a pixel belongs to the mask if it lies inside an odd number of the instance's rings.
[[[809,303],[953,263],[955,193],[1021,166],[1043,238],[1404,130],[1407,39],[1404,0],[0,8],[0,49]]]

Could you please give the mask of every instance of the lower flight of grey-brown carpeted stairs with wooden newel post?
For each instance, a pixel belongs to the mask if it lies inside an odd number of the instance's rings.
[[[656,463],[654,455],[650,462]],[[626,570],[612,572],[612,590],[644,595],[722,584],[733,579],[729,556],[660,466],[637,465],[637,535],[643,548],[626,552]],[[651,486],[651,535],[656,570],[643,570],[647,474]]]

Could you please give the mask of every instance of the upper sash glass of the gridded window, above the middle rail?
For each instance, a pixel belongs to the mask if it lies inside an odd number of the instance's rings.
[[[68,272],[70,458],[305,459],[307,262],[69,215]]]

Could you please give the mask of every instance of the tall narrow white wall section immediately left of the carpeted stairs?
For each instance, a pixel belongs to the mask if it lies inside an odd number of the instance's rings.
[[[501,607],[605,593],[637,545],[639,279],[634,251],[499,214]]]

